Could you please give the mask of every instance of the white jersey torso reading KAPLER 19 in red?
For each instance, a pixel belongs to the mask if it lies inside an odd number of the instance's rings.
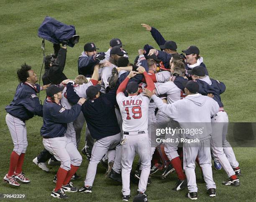
[[[123,131],[148,131],[148,104],[150,98],[139,94],[126,97],[124,93],[116,96],[123,119]]]

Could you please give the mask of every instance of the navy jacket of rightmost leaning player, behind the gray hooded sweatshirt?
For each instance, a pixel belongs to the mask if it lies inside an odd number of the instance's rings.
[[[220,107],[223,107],[223,103],[221,102],[220,94],[224,93],[226,90],[226,86],[223,82],[214,80],[210,78],[212,84],[208,84],[205,81],[200,79],[195,80],[199,84],[199,93],[202,95],[207,96],[208,93],[212,93],[214,95],[213,99],[218,102]],[[183,78],[182,76],[176,76],[174,79],[174,84],[178,86],[178,88],[184,91],[184,83],[187,82],[187,79]]]

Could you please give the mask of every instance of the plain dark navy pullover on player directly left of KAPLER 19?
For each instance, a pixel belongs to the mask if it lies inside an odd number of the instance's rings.
[[[116,90],[117,88],[113,88],[94,100],[86,101],[82,106],[84,118],[94,139],[99,140],[120,133],[115,115]],[[67,99],[71,103],[79,100],[73,85],[67,85]]]

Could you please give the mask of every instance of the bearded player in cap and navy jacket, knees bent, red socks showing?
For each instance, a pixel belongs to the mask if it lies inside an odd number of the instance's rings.
[[[67,141],[64,134],[67,131],[67,124],[77,119],[85,99],[81,98],[71,109],[65,109],[61,105],[61,88],[51,85],[47,88],[46,95],[43,106],[44,124],[40,132],[44,138],[44,147],[61,162],[56,187],[51,196],[63,199],[67,198],[64,192],[77,192],[77,188],[69,181],[82,163],[82,158],[74,155],[77,148],[72,142]]]

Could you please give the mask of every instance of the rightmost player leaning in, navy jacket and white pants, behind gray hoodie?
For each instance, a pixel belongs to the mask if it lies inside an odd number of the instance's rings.
[[[226,89],[224,83],[214,80],[205,75],[205,68],[197,66],[188,73],[192,79],[197,81],[200,86],[199,93],[207,95],[213,94],[213,99],[219,104],[219,111],[212,116],[212,136],[210,139],[211,150],[214,157],[220,162],[225,172],[228,174],[228,180],[223,182],[224,185],[239,186],[240,182],[237,176],[241,176],[241,169],[236,160],[232,147],[226,139],[228,129],[228,115],[224,111],[223,103],[221,102],[220,94]],[[175,78],[174,82],[182,86],[183,78]]]

